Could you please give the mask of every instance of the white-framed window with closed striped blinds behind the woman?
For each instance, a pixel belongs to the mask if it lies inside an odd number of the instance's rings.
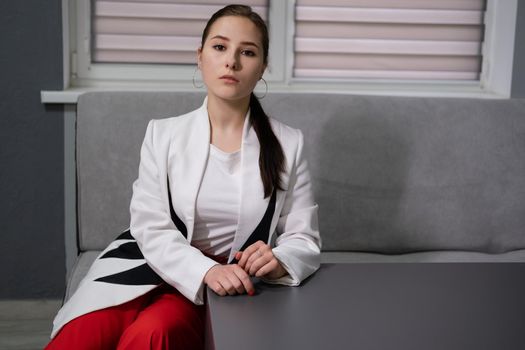
[[[510,93],[516,0],[237,3],[254,7],[269,25],[271,91]],[[187,90],[204,22],[226,2],[63,4],[67,86]]]

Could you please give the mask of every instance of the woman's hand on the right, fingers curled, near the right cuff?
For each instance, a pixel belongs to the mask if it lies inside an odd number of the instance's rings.
[[[287,274],[279,260],[275,258],[272,248],[263,241],[257,241],[243,252],[235,254],[237,263],[250,276],[278,279]]]

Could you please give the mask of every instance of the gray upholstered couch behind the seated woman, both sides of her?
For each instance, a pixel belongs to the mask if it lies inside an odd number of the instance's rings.
[[[93,92],[77,106],[79,256],[66,298],[128,227],[152,118],[202,93]],[[324,262],[525,261],[525,100],[269,94],[303,130]]]

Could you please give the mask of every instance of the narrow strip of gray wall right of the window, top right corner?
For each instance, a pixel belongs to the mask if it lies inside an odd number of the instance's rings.
[[[514,98],[525,97],[525,3],[523,1],[518,2],[511,93]]]

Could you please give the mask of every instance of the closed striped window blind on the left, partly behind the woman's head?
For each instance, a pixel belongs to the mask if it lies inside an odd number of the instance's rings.
[[[265,21],[268,0],[236,0]],[[218,0],[92,1],[93,62],[193,64]]]

